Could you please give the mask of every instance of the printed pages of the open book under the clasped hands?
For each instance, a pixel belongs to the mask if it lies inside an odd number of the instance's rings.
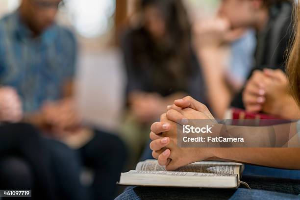
[[[233,162],[196,162],[180,167],[176,172],[197,172],[214,174],[237,174],[240,173],[240,163]],[[165,166],[158,164],[157,160],[146,160],[139,162],[136,166],[137,171],[166,171]]]

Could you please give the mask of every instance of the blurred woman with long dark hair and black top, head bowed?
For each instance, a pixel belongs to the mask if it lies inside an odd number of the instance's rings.
[[[140,9],[140,24],[128,30],[122,42],[129,110],[123,132],[135,158],[148,141],[150,123],[168,104],[186,94],[206,101],[182,1],[141,0]]]

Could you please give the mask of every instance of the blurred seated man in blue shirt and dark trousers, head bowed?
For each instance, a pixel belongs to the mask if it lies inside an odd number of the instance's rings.
[[[125,162],[125,146],[115,135],[82,125],[76,112],[75,36],[55,23],[62,3],[22,0],[18,10],[0,20],[0,85],[15,89],[24,120],[51,138],[44,145],[56,160],[50,165],[60,198],[112,199]],[[73,143],[77,150],[59,141]],[[81,163],[94,172],[88,195],[79,182]]]

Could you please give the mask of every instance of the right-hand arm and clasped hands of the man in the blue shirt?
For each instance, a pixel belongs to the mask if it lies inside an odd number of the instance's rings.
[[[77,42],[75,35],[65,29],[64,38],[68,46],[68,52],[66,56],[66,65],[63,69],[64,79],[62,85],[59,88],[61,91],[61,99],[57,101],[46,101],[39,111],[25,116],[25,122],[37,125],[43,129],[54,130],[55,134],[63,132],[64,130],[76,130],[80,126],[81,119],[78,116],[74,99],[74,76],[75,65],[77,61]],[[63,56],[63,55],[62,55]],[[61,134],[63,135],[63,134]]]

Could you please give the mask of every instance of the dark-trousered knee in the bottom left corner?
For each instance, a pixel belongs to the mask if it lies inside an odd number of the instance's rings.
[[[34,184],[29,164],[18,157],[0,160],[0,186],[11,189],[31,189]]]

